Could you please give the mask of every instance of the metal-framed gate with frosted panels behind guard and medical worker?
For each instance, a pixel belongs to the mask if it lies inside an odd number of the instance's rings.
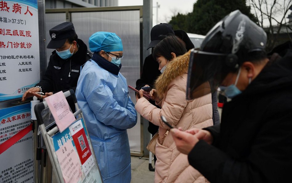
[[[120,72],[126,77],[128,85],[136,86],[136,80],[140,78],[140,64],[143,63],[142,7],[47,9],[45,14],[46,39],[51,40],[49,29],[66,21],[74,24],[78,38],[83,40],[88,49],[88,39],[93,33],[97,31],[116,33],[122,39],[125,55]],[[52,51],[52,49],[47,49],[47,63]],[[132,90],[129,90],[129,93],[135,104],[135,93]],[[143,156],[142,121],[143,118],[138,114],[136,126],[128,129],[131,155],[134,156]]]

